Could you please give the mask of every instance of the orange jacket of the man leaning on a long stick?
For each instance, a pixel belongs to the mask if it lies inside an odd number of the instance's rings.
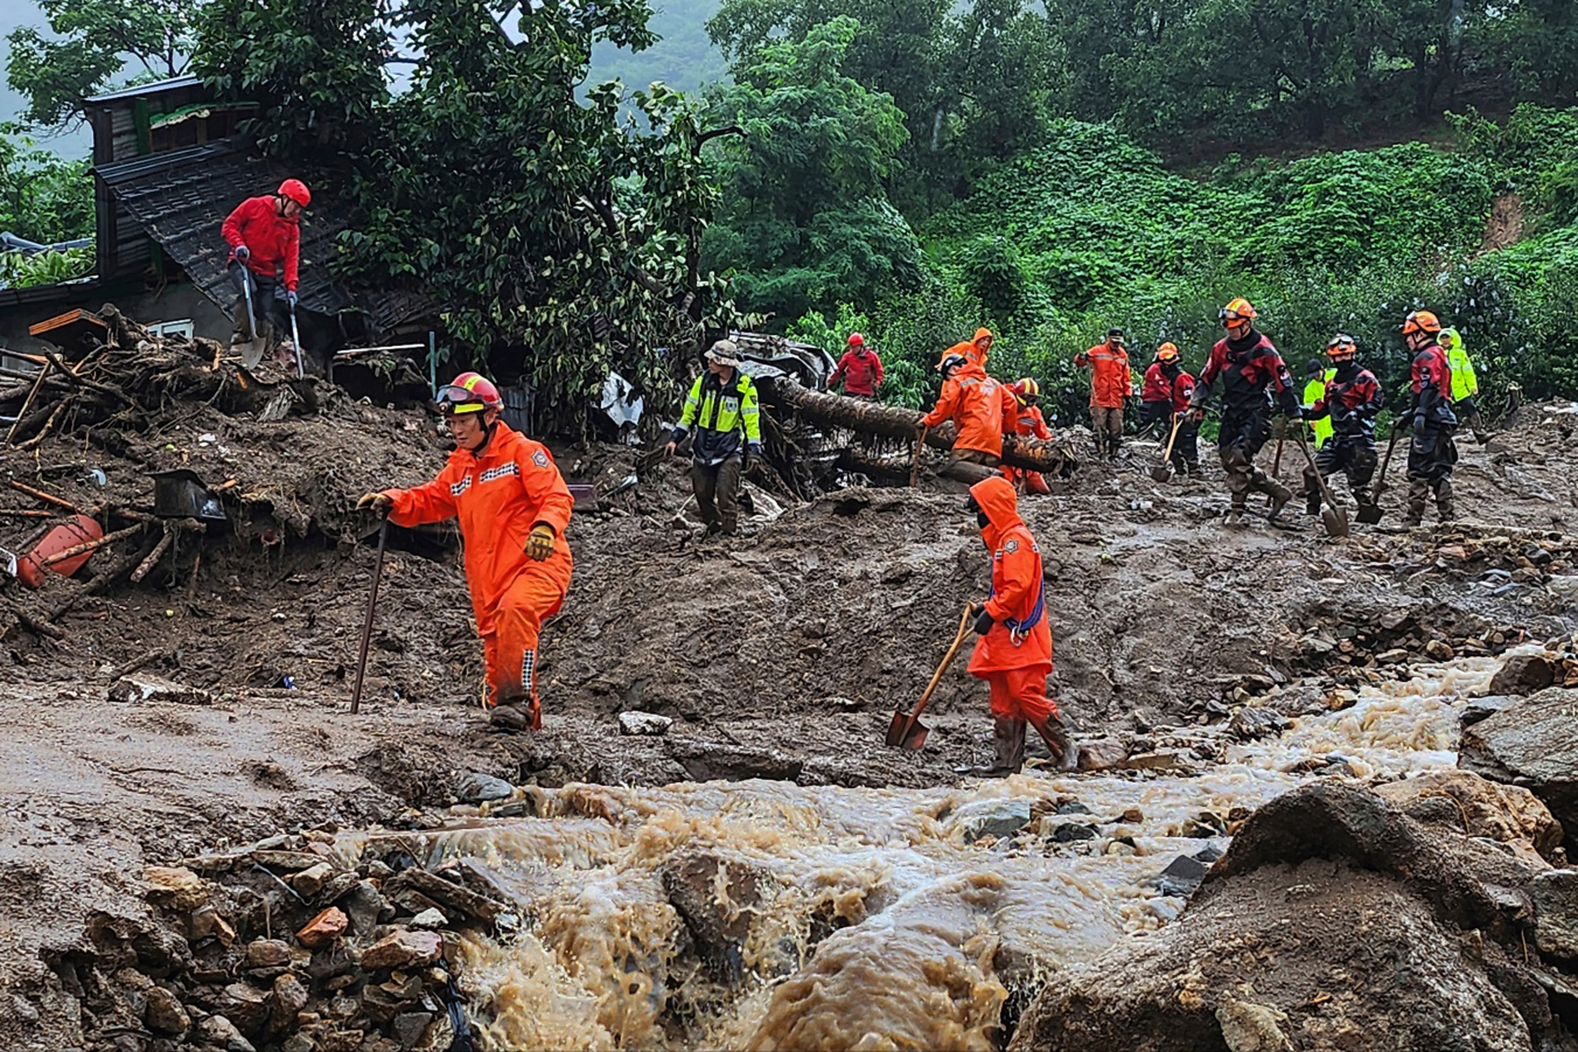
[[[563,602],[573,565],[565,528],[574,498],[554,457],[540,442],[503,421],[494,427],[481,456],[456,450],[431,483],[383,491],[394,502],[390,520],[396,525],[459,517],[466,539],[466,580],[472,588],[477,631],[483,636],[494,631],[499,602],[518,577],[527,571],[546,576],[559,585],[559,602]],[[525,554],[525,539],[538,522],[554,527],[559,538],[554,554],[541,563]],[[544,617],[557,609],[559,604],[554,604]]]

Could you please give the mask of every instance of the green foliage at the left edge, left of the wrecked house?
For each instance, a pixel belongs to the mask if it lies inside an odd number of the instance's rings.
[[[88,162],[63,161],[27,137],[0,137],[0,229],[44,243],[93,237]]]

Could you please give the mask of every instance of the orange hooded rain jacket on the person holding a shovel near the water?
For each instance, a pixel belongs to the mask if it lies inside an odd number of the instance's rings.
[[[1008,479],[993,476],[970,486],[986,513],[982,539],[991,550],[991,631],[975,640],[970,673],[1053,667],[1053,629],[1046,623],[1046,584],[1041,549],[1019,517],[1019,502]]]

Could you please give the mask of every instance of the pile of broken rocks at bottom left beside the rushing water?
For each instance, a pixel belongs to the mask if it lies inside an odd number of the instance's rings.
[[[347,866],[327,831],[150,867],[145,886],[147,918],[93,915],[46,953],[93,1052],[466,1050],[458,932],[518,924],[477,867]]]

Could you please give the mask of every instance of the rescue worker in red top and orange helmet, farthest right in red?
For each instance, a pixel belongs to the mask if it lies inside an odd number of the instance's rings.
[[[1441,345],[1441,319],[1430,311],[1414,311],[1403,322],[1403,341],[1414,352],[1409,372],[1414,404],[1398,413],[1393,427],[1409,427],[1414,440],[1408,446],[1408,514],[1403,525],[1419,525],[1425,519],[1425,502],[1436,494],[1436,511],[1442,522],[1456,517],[1452,503],[1452,465],[1458,462],[1458,446],[1452,432],[1458,426],[1452,412],[1452,364]]]

